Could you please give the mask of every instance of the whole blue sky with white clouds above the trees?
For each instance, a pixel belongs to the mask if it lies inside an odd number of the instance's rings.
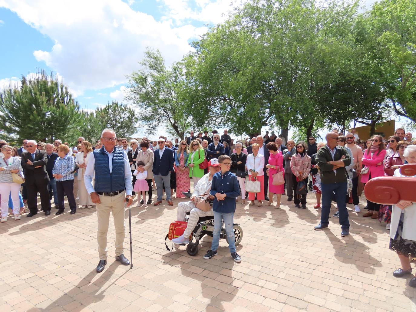
[[[0,89],[41,68],[62,77],[82,109],[121,102],[146,47],[178,61],[240,1],[0,0]]]

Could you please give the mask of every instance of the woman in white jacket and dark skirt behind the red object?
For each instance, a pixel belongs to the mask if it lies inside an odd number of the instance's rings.
[[[416,145],[407,146],[403,156],[408,163],[416,163]],[[393,176],[404,177],[400,174],[400,168],[394,171]],[[396,251],[401,263],[401,268],[395,270],[393,275],[402,277],[412,272],[409,257],[416,257],[416,203],[399,201],[393,205],[390,224],[389,248]],[[416,276],[409,285],[416,287]]]

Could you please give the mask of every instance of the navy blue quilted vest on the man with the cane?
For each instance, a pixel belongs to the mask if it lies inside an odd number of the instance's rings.
[[[108,155],[104,146],[93,151],[95,158],[95,184],[96,192],[111,193],[124,190],[124,150],[115,149],[113,152],[113,169],[110,173]]]

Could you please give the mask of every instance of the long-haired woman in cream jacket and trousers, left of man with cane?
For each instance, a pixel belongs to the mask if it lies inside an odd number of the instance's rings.
[[[89,143],[88,141],[83,141],[81,144],[81,151],[78,152],[77,156],[75,157],[75,163],[79,167],[77,176],[79,197],[78,203],[79,205],[81,205],[81,209],[92,208],[94,206],[94,203],[92,202],[91,197],[89,196],[87,188],[85,188],[84,184],[85,168],[87,168],[87,163],[90,157],[93,157],[91,143]]]

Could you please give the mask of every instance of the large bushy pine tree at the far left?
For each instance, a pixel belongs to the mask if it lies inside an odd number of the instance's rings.
[[[45,71],[38,72],[35,79],[23,76],[21,83],[20,88],[8,88],[0,94],[5,133],[17,141],[75,141],[82,116],[67,84]]]

